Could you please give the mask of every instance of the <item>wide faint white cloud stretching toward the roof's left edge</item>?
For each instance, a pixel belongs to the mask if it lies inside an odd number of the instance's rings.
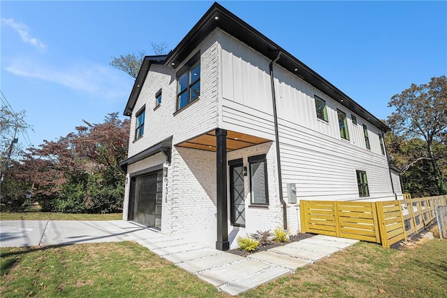
[[[132,84],[111,66],[88,62],[59,68],[32,60],[16,59],[5,69],[16,76],[57,83],[90,96],[109,100],[122,100],[122,97],[129,95]]]

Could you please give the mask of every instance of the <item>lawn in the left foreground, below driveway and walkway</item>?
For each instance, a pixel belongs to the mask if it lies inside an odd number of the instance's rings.
[[[2,248],[0,297],[223,297],[133,242]]]

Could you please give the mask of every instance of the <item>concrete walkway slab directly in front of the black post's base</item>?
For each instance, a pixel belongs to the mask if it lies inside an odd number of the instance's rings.
[[[233,255],[231,253],[221,253],[220,255],[210,255],[208,257],[200,257],[198,259],[178,263],[177,266],[186,271],[196,273],[206,269],[219,267],[223,264],[233,263],[245,260],[244,257]]]

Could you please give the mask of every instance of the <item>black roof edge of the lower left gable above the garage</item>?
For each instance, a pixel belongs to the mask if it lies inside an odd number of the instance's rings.
[[[151,65],[163,64],[165,59],[166,55],[145,56],[145,58],[142,60],[140,71],[138,71],[138,75],[135,78],[135,83],[133,83],[132,91],[129,95],[129,99],[127,100],[126,108],[124,108],[123,115],[132,115],[133,107],[137,102],[138,96],[140,96],[142,85],[145,83],[147,73],[149,72]]]

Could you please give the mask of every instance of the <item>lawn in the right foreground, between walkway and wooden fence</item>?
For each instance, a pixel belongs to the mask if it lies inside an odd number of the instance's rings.
[[[242,297],[447,297],[447,241],[389,250],[361,242]]]

